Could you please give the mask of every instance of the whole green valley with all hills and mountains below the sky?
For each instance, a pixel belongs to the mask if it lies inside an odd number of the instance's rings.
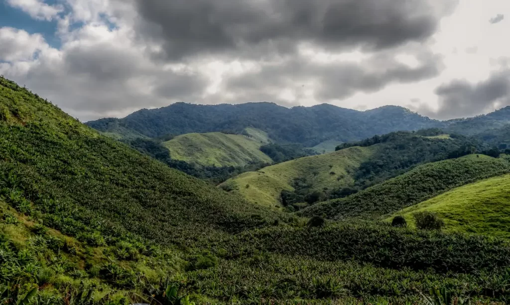
[[[450,122],[393,106],[215,107],[86,125],[0,77],[0,302],[510,299],[507,109]],[[334,152],[309,155],[325,141]],[[245,170],[206,175],[227,166]],[[418,228],[416,211],[444,228]]]

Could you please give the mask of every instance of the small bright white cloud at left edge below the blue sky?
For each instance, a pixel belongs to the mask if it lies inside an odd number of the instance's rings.
[[[48,45],[40,34],[29,34],[12,27],[0,28],[0,61],[27,61]]]

